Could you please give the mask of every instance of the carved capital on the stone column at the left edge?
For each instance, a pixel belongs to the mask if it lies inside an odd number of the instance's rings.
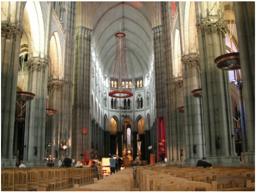
[[[5,37],[6,39],[13,38],[16,41],[16,35],[21,31],[19,24],[1,24],[1,37]]]

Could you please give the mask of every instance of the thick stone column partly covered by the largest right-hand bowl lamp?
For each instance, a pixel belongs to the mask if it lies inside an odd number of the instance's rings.
[[[236,158],[229,75],[214,59],[226,53],[223,2],[195,2],[201,64],[206,157],[215,164],[239,164]],[[210,11],[210,12],[209,12]]]

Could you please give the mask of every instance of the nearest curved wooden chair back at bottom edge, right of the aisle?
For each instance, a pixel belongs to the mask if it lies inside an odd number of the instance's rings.
[[[163,190],[163,189],[164,190]],[[162,187],[160,184],[161,191],[212,191],[212,185],[203,182],[180,182],[173,183]]]

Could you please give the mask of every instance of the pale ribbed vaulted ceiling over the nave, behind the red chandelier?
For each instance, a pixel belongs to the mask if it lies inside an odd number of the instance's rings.
[[[94,54],[103,74],[112,76],[115,64],[115,33],[126,34],[126,63],[129,78],[145,76],[152,63],[152,26],[156,2],[86,2],[79,7],[87,19],[77,25],[93,30]],[[80,4],[78,3],[78,6]]]

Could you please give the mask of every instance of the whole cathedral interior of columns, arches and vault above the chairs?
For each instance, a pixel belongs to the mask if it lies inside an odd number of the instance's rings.
[[[1,167],[111,154],[255,165],[255,2],[1,2]]]

